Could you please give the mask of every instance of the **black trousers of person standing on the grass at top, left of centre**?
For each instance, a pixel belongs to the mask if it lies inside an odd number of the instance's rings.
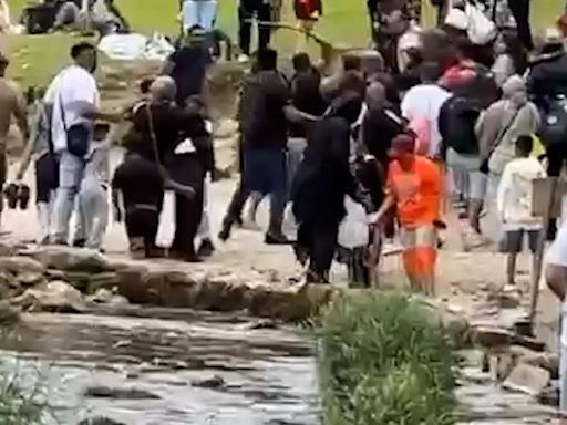
[[[254,17],[259,22],[271,21],[271,8],[265,0],[241,0],[238,8],[238,41],[244,54],[250,54],[251,29]],[[266,50],[270,44],[271,29],[258,24],[258,50]]]

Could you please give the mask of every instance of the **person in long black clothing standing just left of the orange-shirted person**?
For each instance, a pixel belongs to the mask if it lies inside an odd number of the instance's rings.
[[[329,282],[337,250],[344,196],[357,199],[357,182],[349,165],[351,125],[362,107],[360,93],[343,92],[318,123],[309,139],[292,189],[298,222],[296,253],[309,262],[308,282]]]

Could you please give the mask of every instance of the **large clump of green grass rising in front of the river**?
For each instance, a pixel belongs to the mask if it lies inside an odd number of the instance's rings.
[[[324,425],[454,422],[451,349],[415,302],[398,294],[340,298],[317,332]]]

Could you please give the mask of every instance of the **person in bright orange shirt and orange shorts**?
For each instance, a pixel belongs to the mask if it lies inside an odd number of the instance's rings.
[[[443,177],[437,164],[414,154],[415,139],[400,135],[392,141],[386,198],[377,221],[396,207],[401,225],[403,263],[413,290],[434,294],[437,231]]]

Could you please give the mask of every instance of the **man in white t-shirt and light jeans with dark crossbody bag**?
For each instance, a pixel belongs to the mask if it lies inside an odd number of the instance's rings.
[[[83,178],[85,157],[92,147],[94,121],[114,118],[99,110],[100,95],[93,77],[96,49],[90,43],[75,44],[71,58],[74,63],[55,76],[44,97],[51,113],[53,151],[59,158],[59,187],[50,238],[52,243],[59,245],[66,245],[69,240],[69,221]],[[70,129],[78,128],[82,141],[69,136]]]

